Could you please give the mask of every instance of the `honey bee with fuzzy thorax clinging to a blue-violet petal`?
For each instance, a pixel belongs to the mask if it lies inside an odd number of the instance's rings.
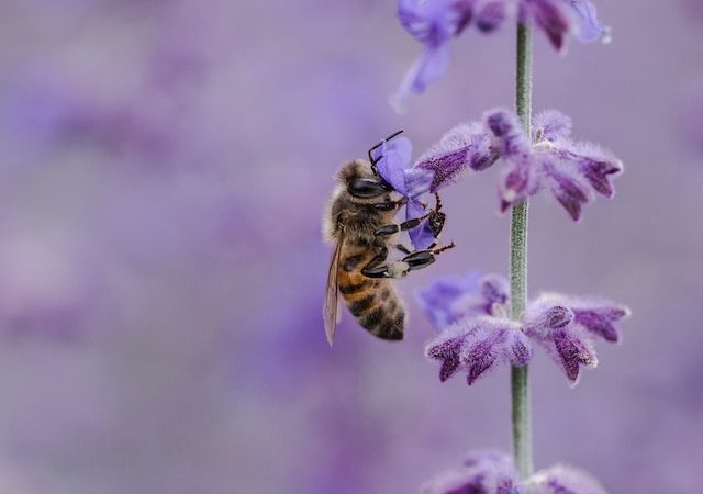
[[[386,141],[398,134],[400,132]],[[434,248],[435,242],[428,249],[411,251],[395,243],[399,232],[412,229],[425,220],[437,238],[446,216],[440,211],[439,197],[435,194],[436,205],[428,213],[400,224],[393,223],[395,213],[406,200],[393,199],[398,193],[376,169],[381,157],[373,159],[371,153],[383,142],[369,149],[368,161],[356,159],[339,169],[338,183],[323,216],[324,238],[334,246],[323,310],[330,345],[334,341],[338,322],[338,293],[358,323],[373,336],[387,340],[403,339],[405,308],[390,279],[425,268],[435,261],[436,255],[454,247],[451,243]],[[391,248],[405,256],[387,262]]]

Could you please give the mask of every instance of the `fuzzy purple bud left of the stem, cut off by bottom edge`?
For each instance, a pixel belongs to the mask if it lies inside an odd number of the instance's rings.
[[[464,465],[426,482],[422,494],[516,494],[518,476],[510,456],[500,451],[477,451]]]

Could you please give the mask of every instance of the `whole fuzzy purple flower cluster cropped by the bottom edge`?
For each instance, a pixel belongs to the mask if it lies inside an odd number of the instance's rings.
[[[606,494],[589,473],[556,464],[521,479],[512,458],[501,451],[472,451],[464,464],[421,487],[422,494]]]

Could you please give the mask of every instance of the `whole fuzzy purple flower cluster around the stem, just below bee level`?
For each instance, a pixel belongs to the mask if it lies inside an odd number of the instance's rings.
[[[440,362],[439,380],[466,371],[469,385],[496,364],[528,363],[528,338],[540,345],[576,385],[581,368],[598,364],[594,340],[620,341],[615,323],[629,314],[626,307],[602,299],[543,294],[528,303],[520,322],[511,321],[500,308],[509,303],[507,281],[495,274],[480,282],[475,274],[438,280],[417,297],[440,330],[425,349],[427,358]],[[457,304],[461,300],[466,303]]]

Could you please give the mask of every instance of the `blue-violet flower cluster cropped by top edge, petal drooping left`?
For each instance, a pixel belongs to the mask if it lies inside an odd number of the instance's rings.
[[[449,42],[471,23],[491,33],[514,12],[543,31],[558,52],[568,35],[582,43],[607,42],[610,32],[598,20],[590,0],[400,0],[398,19],[424,50],[405,74],[391,104],[399,111],[411,93],[422,93],[449,66]]]

